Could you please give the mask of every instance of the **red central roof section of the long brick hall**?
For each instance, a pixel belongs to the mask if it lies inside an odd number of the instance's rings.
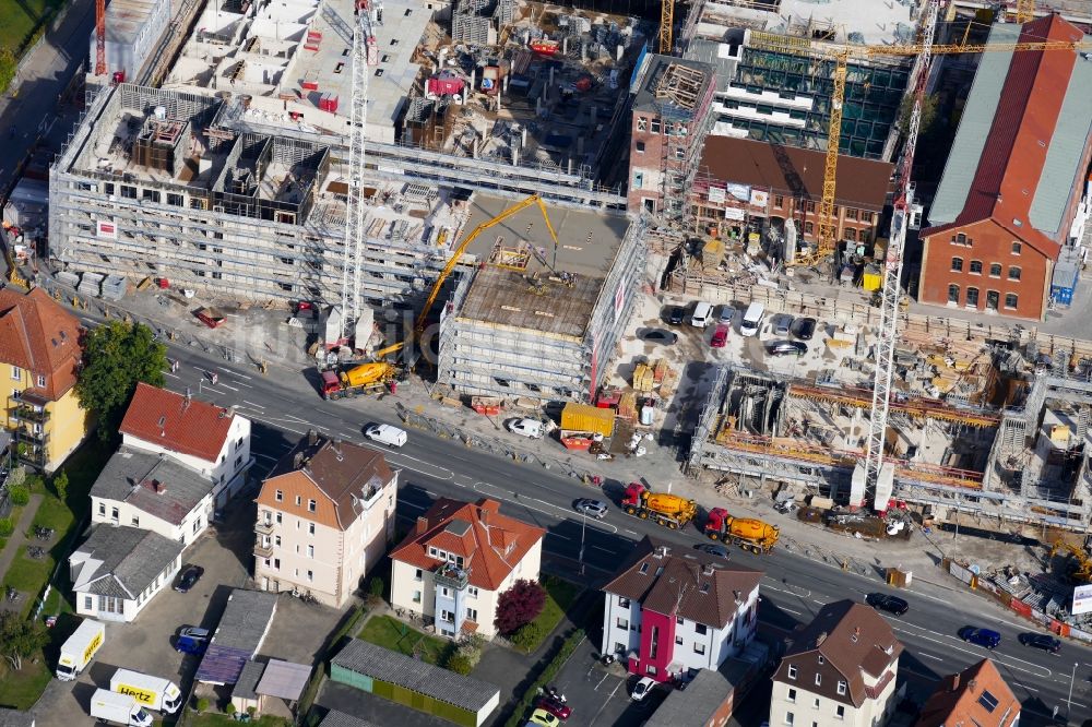
[[[1051,14],[1025,23],[1019,41],[1076,41],[1082,37],[1079,28]],[[1035,190],[1040,184],[1054,183],[1042,178],[1043,169],[1076,62],[1076,51],[1012,53],[963,210],[954,222],[923,230],[923,236],[993,219],[1017,239],[1057,260],[1059,241],[1034,229],[1029,215]],[[1017,219],[1020,225],[1013,224]]]

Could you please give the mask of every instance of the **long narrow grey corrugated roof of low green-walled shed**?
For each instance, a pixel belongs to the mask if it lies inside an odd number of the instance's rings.
[[[498,687],[480,679],[463,677],[359,639],[346,644],[332,664],[471,712],[478,712],[500,694]]]

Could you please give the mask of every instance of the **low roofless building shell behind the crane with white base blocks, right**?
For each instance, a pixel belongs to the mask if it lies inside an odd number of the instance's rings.
[[[977,395],[892,401],[885,458],[894,463],[893,497],[942,521],[959,512],[987,527],[1084,529],[1092,385],[1036,377],[1024,406],[1002,417],[985,405],[996,377],[982,376]],[[689,466],[844,502],[870,407],[866,389],[725,367],[699,416]]]

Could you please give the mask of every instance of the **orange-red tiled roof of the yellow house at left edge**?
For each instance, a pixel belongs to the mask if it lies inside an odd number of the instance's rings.
[[[75,385],[80,348],[80,321],[41,288],[26,295],[0,290],[0,361],[33,376],[28,392],[56,402]],[[37,378],[46,385],[37,386]]]

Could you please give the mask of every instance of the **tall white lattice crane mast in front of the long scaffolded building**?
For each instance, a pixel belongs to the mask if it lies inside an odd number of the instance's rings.
[[[345,254],[342,261],[342,335],[351,338],[360,320],[360,279],[365,237],[364,169],[368,138],[369,67],[379,64],[373,27],[382,23],[381,0],[356,0],[353,29],[353,102],[349,112],[348,199],[345,207]]]

